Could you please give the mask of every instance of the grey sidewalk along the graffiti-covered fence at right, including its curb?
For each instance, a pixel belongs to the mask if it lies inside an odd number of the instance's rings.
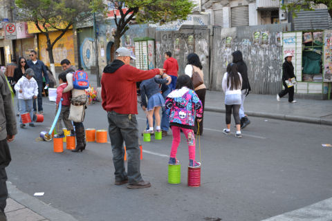
[[[280,102],[276,96],[249,94],[244,104],[246,114],[249,117],[332,125],[332,100],[296,99],[297,103],[289,104],[287,95]],[[219,91],[208,90],[205,111],[225,113],[224,97]]]

